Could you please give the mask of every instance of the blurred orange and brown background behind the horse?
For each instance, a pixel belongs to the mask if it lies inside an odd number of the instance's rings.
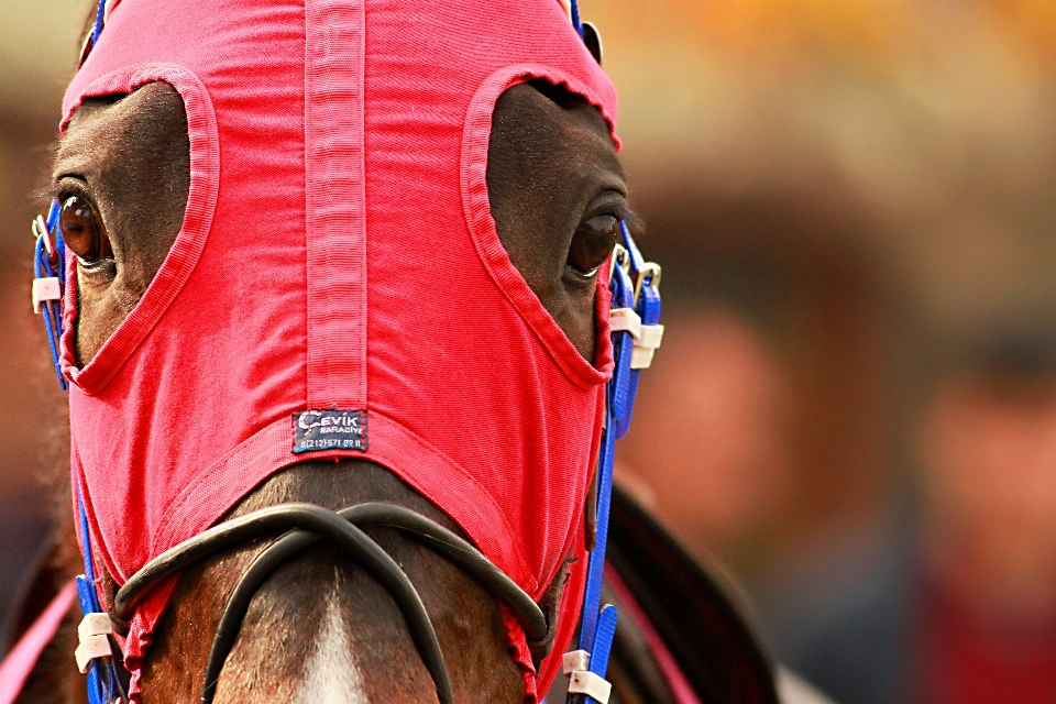
[[[619,480],[838,701],[1056,702],[1056,2],[582,0],[667,337]],[[31,218],[80,0],[0,0],[0,610],[62,396]]]

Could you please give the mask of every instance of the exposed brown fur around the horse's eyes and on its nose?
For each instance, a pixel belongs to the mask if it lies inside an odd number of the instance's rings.
[[[575,348],[592,359],[595,280],[566,264],[569,248],[583,222],[600,212],[634,221],[607,124],[585,101],[549,84],[512,87],[495,109],[487,186],[513,263]],[[55,161],[53,193],[91,201],[113,249],[112,260],[78,270],[81,363],[92,359],[156,274],[179,231],[188,188],[186,116],[172,87],[151,84],[128,96],[90,100],[74,114]],[[289,501],[340,508],[367,499],[403,504],[455,528],[391,472],[354,460],[296,464],[264,482],[231,516]],[[69,527],[69,517],[62,522]],[[457,701],[521,702],[521,678],[507,652],[495,601],[415,542],[385,530],[375,535],[421,593]],[[63,538],[72,541],[73,531],[64,530]],[[199,696],[220,613],[261,548],[233,551],[182,576],[145,662],[144,702]],[[76,554],[69,544],[62,550],[67,559]],[[103,580],[112,600],[113,582],[107,574]],[[294,700],[330,603],[340,607],[370,701],[436,701],[391,596],[326,547],[293,560],[262,587],[221,673],[216,701]],[[78,619],[72,612],[20,702],[82,701],[82,678],[68,656],[75,636],[67,631]],[[56,664],[54,650],[65,650],[66,664]]]

